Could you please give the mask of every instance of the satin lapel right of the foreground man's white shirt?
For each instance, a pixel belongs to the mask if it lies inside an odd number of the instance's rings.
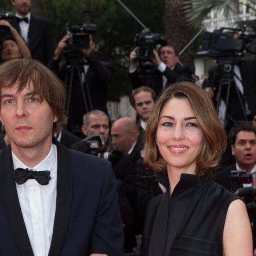
[[[56,142],[58,154],[57,198],[49,256],[60,255],[64,246],[72,203],[72,164],[69,150]]]

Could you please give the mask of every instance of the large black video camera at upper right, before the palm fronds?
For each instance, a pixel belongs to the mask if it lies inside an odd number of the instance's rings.
[[[256,53],[256,44],[253,39],[256,33],[246,32],[247,26],[241,29],[222,27],[219,30],[203,33],[202,50],[207,50],[207,55],[215,60],[241,60],[246,52]],[[236,31],[237,38],[232,33],[224,33],[224,30]]]

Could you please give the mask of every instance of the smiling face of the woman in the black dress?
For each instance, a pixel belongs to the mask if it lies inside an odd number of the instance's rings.
[[[170,99],[163,107],[156,139],[168,171],[179,169],[181,173],[195,173],[204,136],[186,98]]]

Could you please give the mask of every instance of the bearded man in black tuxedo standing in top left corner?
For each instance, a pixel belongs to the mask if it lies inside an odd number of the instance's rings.
[[[30,0],[11,0],[16,9],[16,18],[10,21],[24,39],[32,58],[48,65],[53,57],[53,35],[47,19],[34,16],[30,13]]]

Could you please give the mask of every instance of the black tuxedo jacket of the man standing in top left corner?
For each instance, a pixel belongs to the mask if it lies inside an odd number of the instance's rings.
[[[10,23],[20,34],[16,19],[13,19]],[[28,48],[33,59],[39,60],[45,65],[49,64],[53,57],[54,45],[50,23],[47,19],[31,15],[28,30]]]

